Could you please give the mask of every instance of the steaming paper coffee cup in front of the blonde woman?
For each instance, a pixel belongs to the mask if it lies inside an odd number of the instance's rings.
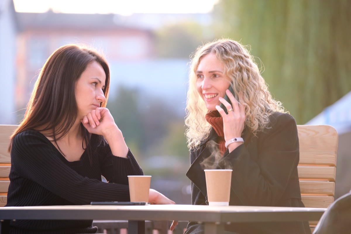
[[[231,169],[205,169],[207,200],[210,206],[229,206]]]

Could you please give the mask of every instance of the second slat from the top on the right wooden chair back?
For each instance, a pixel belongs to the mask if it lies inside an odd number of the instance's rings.
[[[299,179],[324,179],[335,181],[336,167],[308,167],[298,166]]]

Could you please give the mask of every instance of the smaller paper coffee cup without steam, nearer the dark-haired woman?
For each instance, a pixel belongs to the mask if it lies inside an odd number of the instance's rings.
[[[128,175],[131,201],[149,201],[151,175]]]

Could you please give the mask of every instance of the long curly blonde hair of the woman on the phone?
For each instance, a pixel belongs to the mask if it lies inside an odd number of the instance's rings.
[[[220,39],[199,46],[191,56],[185,125],[188,147],[196,149],[211,131],[206,121],[208,112],[204,100],[196,89],[196,71],[201,58],[214,53],[224,65],[224,73],[232,80],[236,96],[240,93],[240,105],[245,105],[245,126],[254,135],[269,124],[272,112],[285,112],[282,103],[274,100],[259,68],[250,52],[238,41]]]

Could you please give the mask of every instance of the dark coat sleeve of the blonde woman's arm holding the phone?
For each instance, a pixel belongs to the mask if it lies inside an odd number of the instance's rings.
[[[296,122],[291,115],[278,113],[271,116],[269,128],[251,140],[257,141],[256,149],[241,145],[224,155],[233,169],[231,202],[239,199],[246,206],[277,205],[299,162]]]

